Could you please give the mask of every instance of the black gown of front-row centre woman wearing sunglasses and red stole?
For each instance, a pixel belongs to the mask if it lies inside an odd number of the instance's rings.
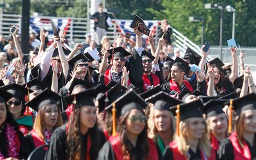
[[[156,143],[154,143],[156,145],[156,148],[157,148],[157,154],[158,154],[158,159],[162,159],[162,156],[161,156],[161,151],[158,147],[158,145]],[[135,152],[136,148],[133,147],[132,148],[132,152],[134,151]],[[131,155],[132,157],[132,155]],[[131,158],[132,159],[132,158]],[[100,149],[99,151],[99,155],[98,155],[98,158],[97,160],[115,160],[115,156],[114,156],[114,151],[112,149],[112,145],[110,144],[109,141],[107,141],[102,149]],[[139,160],[139,159],[134,159],[134,160]]]

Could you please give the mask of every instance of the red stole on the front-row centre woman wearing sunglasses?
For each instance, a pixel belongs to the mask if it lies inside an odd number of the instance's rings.
[[[149,142],[149,155],[147,160],[158,160],[158,152],[156,148],[156,144],[150,139],[147,138]],[[114,151],[114,158],[116,160],[130,160],[130,158],[124,158],[122,152],[122,146],[120,145],[120,136],[110,137],[109,142],[112,145],[112,149]]]

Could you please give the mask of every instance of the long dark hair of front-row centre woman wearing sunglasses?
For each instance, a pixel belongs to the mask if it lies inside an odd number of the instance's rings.
[[[142,133],[138,135],[137,143],[136,143],[136,149],[132,150],[133,145],[127,138],[127,130],[125,126],[125,121],[130,114],[131,110],[129,112],[126,112],[124,116],[121,117],[118,131],[120,134],[120,144],[122,146],[122,152],[124,157],[130,157],[130,153],[132,153],[133,159],[147,159],[147,156],[149,154],[149,143],[147,141],[147,123],[145,124],[144,129],[142,130]],[[141,111],[143,114],[144,112]],[[145,115],[145,114],[144,114]]]

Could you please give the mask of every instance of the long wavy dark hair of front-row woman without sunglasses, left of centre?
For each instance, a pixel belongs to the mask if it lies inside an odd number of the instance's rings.
[[[82,148],[86,148],[87,146],[84,146],[86,144],[83,143],[82,134],[80,133],[80,110],[80,108],[76,108],[69,120],[68,136],[66,139],[67,159],[86,159],[87,153],[82,152]],[[98,152],[100,150],[100,136],[97,122],[88,130],[87,136],[90,136],[91,141],[91,147],[89,150],[90,159],[97,159]]]

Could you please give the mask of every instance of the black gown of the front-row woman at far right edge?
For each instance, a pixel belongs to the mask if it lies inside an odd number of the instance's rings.
[[[256,159],[256,136],[254,134],[254,144],[253,146],[245,140],[248,148],[250,150],[251,158]],[[234,160],[234,149],[230,138],[226,138],[225,140],[221,141],[219,145],[219,149],[217,152],[216,159],[219,160]]]

